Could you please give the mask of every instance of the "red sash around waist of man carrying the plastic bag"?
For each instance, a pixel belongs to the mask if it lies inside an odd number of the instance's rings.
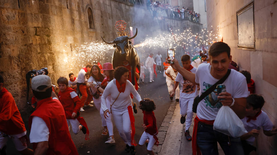
[[[197,143],[196,143],[198,123],[202,122],[208,125],[213,125],[214,121],[215,120],[211,120],[211,121],[202,120],[202,119],[199,119],[196,115],[194,119],[194,126],[193,126],[193,133],[192,133],[192,154],[193,155],[201,155],[200,148],[197,146]]]

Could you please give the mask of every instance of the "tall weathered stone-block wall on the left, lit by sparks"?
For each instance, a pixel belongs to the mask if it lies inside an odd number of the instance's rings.
[[[89,28],[88,7],[92,9],[95,29]],[[101,40],[101,36],[113,40],[114,25],[119,20],[125,20],[134,30],[138,28],[135,42],[157,28],[145,5],[120,0],[0,1],[0,74],[21,115],[29,115],[25,79],[29,70],[47,67],[56,85],[60,76],[68,78],[71,72],[64,56],[84,42]],[[81,67],[76,66],[78,70]]]

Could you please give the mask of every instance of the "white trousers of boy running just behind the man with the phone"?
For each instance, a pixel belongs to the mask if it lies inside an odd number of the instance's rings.
[[[189,127],[191,126],[192,118],[193,118],[193,112],[192,112],[192,105],[193,105],[194,98],[180,98],[180,114],[182,116],[185,116],[187,114],[186,118],[186,130],[189,130]]]

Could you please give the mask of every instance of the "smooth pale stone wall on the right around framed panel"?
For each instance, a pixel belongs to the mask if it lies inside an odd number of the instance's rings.
[[[236,11],[252,0],[207,0],[208,30],[219,26],[223,41],[231,48],[233,60],[240,70],[248,70],[255,81],[256,93],[266,101],[263,111],[277,126],[277,3],[273,0],[254,0],[255,50],[238,48]],[[211,27],[213,26],[213,27]],[[257,154],[277,154],[277,136],[267,137],[260,132]]]

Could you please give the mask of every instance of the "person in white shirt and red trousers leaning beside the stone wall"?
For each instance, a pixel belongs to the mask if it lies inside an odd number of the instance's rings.
[[[81,103],[82,103],[82,107],[80,109],[80,111],[85,111],[84,110],[84,104],[86,102],[86,99],[88,97],[88,93],[86,91],[86,72],[90,72],[92,67],[92,64],[87,64],[85,67],[83,67],[77,77],[77,94],[82,95],[81,98]]]

